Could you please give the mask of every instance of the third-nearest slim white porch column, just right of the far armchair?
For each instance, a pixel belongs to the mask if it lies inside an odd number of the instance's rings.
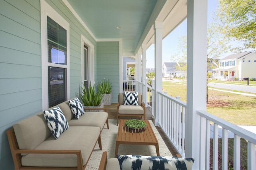
[[[148,107],[148,102],[147,102],[147,98],[148,98],[148,88],[147,88],[147,84],[145,82],[146,79],[146,44],[142,44],[142,87],[143,85],[145,86],[144,88],[144,95],[142,98],[142,102],[144,102],[145,106]],[[143,90],[143,88],[142,88]]]

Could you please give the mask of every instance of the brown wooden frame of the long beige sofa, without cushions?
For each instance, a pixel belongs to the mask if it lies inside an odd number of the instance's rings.
[[[91,109],[90,110],[98,110],[96,109]],[[106,108],[103,109],[104,112],[107,112]],[[107,127],[108,127],[108,119],[106,120]],[[109,129],[109,127],[108,127]],[[86,162],[86,164],[83,165],[83,160],[82,160],[82,153],[81,150],[35,150],[35,149],[19,149],[18,142],[16,139],[16,135],[14,132],[14,129],[8,129],[6,131],[7,137],[8,137],[8,142],[10,145],[10,150],[12,153],[12,158],[14,162],[14,169],[15,170],[84,170],[86,168],[86,165],[88,164],[88,161],[90,160],[90,157],[92,155],[92,152],[90,153],[90,156]],[[102,143],[101,143],[101,137],[99,135],[98,137],[98,144],[100,147],[100,150],[102,150]],[[94,144],[94,148],[97,142]],[[21,154],[76,154],[77,156],[77,167],[38,167],[38,166],[22,166],[21,164]]]

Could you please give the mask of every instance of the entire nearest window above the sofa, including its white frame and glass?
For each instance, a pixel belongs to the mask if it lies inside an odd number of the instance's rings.
[[[41,0],[42,107],[70,98],[69,23]]]

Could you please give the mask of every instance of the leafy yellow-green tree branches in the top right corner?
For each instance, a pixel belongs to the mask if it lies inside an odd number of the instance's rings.
[[[219,0],[217,18],[226,37],[244,42],[244,49],[256,49],[256,0]]]

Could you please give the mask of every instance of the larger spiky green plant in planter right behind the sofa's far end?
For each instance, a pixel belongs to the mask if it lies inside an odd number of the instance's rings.
[[[82,87],[82,93],[78,94],[82,104],[84,105],[84,108],[103,108],[104,104],[101,103],[103,94],[101,92],[101,86],[98,86],[98,91],[96,92],[94,85],[92,86],[91,83],[86,88],[86,86],[83,84]],[[95,111],[95,110],[89,110],[89,111]],[[102,111],[102,110],[98,110]]]

